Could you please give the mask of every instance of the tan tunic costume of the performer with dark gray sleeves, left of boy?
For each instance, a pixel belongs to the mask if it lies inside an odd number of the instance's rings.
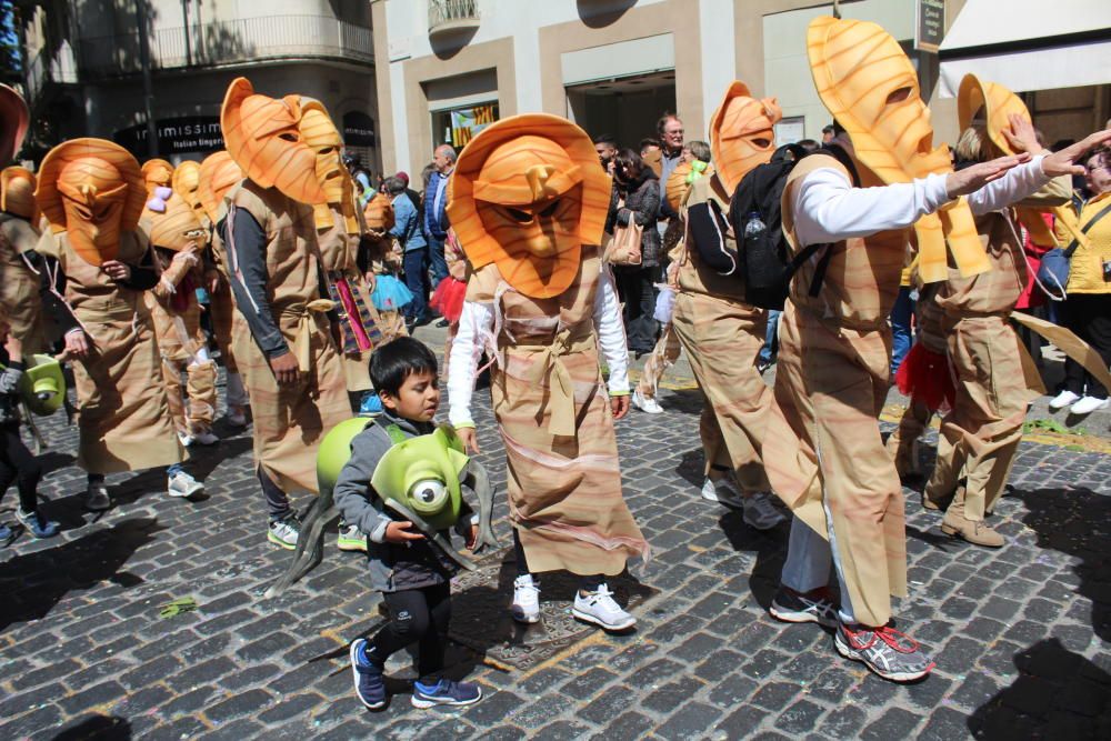
[[[351,407],[323,313],[331,302],[321,304],[319,294],[312,208],[250,180],[232,193],[231,203],[250,213],[266,232],[270,308],[301,370],[296,385],[279,387],[247,322],[234,324],[232,352],[251,397],[254,458],[282,491],[316,493],[317,447],[329,430],[351,417]]]

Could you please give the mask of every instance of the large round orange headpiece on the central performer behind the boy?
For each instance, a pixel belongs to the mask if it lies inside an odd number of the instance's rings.
[[[611,180],[587,132],[558,116],[502,119],[472,139],[448,181],[448,217],[476,270],[493,262],[532,298],[559,296],[598,244]]]

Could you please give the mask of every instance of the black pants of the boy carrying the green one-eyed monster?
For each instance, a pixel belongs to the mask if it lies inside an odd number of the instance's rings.
[[[384,662],[410,643],[417,643],[417,673],[422,683],[434,684],[443,669],[451,620],[451,585],[436,584],[400,592],[384,592],[390,622],[370,640],[373,658]]]

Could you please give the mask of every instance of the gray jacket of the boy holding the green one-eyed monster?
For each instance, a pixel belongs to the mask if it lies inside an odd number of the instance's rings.
[[[396,424],[406,438],[436,430],[433,424],[412,422],[389,412],[383,413],[381,422],[369,422],[367,429],[351,440],[351,458],[340,471],[332,493],[336,507],[347,524],[357,525],[367,535],[367,555],[376,590],[394,592],[444,583],[454,573],[456,567],[450,559],[438,554],[428,541],[411,541],[412,544],[386,542],[386,528],[394,519],[383,511],[382,499],[370,487],[379,461],[393,447],[383,424]],[[469,491],[464,484],[463,494]],[[464,501],[458,529],[469,528],[471,513]]]

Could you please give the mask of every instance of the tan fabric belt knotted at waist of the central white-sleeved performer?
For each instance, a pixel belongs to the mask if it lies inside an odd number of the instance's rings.
[[[590,321],[560,328],[549,343],[540,342],[539,338],[526,338],[507,348],[510,354],[528,356],[522,381],[548,388],[551,400],[548,431],[552,434],[570,437],[575,433],[574,382],[563,364],[563,357],[593,349],[593,322]]]

